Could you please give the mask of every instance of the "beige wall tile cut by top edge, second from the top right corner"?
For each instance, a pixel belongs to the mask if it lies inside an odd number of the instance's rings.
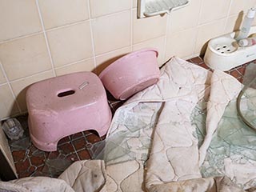
[[[202,13],[199,18],[199,24],[213,22],[228,15],[230,0],[208,0],[202,1]]]

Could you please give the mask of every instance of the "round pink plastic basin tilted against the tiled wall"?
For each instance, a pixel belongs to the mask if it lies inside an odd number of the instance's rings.
[[[103,85],[114,98],[125,100],[158,82],[158,51],[134,51],[106,67],[99,75]]]

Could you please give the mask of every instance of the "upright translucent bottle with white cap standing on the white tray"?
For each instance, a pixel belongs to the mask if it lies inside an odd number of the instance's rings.
[[[241,30],[239,31],[238,37],[235,38],[237,41],[248,37],[250,26],[254,21],[254,16],[255,16],[255,9],[250,8],[250,10],[248,10],[246,14],[246,17],[244,18],[244,21],[242,22],[242,27],[241,27]]]

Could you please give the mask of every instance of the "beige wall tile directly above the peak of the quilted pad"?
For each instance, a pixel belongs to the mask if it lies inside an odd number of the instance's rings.
[[[197,32],[197,28],[192,28],[168,35],[166,41],[166,61],[173,56],[187,58],[192,55]]]

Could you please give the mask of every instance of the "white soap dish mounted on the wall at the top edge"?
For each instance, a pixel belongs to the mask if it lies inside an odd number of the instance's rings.
[[[188,3],[188,0],[138,0],[138,18],[169,14],[170,11],[178,10]]]

